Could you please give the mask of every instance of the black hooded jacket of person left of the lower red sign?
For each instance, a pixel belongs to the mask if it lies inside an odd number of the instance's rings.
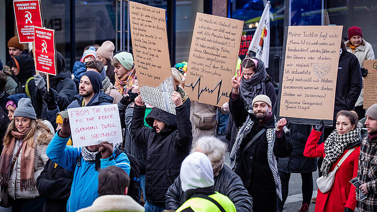
[[[20,67],[20,73],[16,75],[16,78],[19,80],[18,87],[16,88],[16,93],[26,94],[27,79],[34,77],[35,74],[34,60],[28,54],[20,54],[18,56],[15,56],[14,59],[17,60]],[[41,117],[41,110],[39,110],[38,108],[41,108],[39,105],[42,102],[42,98],[37,94],[37,88],[35,87],[34,79],[31,79],[27,83],[27,88],[30,93],[31,104],[35,108],[35,113],[37,114],[37,117]]]

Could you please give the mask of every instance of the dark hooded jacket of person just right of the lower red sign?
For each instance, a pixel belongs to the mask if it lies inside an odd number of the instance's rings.
[[[71,79],[71,72],[65,70],[65,60],[63,55],[58,52],[56,53],[56,67],[57,75],[50,76],[50,89],[52,89],[54,92],[55,101],[59,107],[59,111],[63,111],[73,101],[74,96],[77,94],[77,89],[75,82]],[[39,90],[39,95],[41,96],[42,100],[44,92],[47,92],[47,90]],[[45,101],[42,102],[42,107],[40,108],[42,108],[41,118],[48,120],[49,115],[47,113],[51,112],[51,110],[48,110]],[[56,113],[52,115],[54,116]],[[54,126],[54,123],[51,124]]]

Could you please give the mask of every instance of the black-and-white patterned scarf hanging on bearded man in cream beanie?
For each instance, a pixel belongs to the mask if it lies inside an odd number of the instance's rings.
[[[236,162],[236,160],[239,159],[240,154],[241,154],[240,147],[241,147],[242,140],[247,135],[247,133],[249,133],[251,131],[251,128],[254,125],[254,122],[251,121],[251,118],[250,118],[250,115],[253,114],[253,111],[248,110],[247,112],[249,113],[249,115],[247,116],[245,123],[243,123],[242,127],[240,128],[240,130],[237,133],[236,141],[233,145],[233,148],[232,148],[232,151],[231,151],[230,157],[229,157],[230,166],[233,169],[233,171],[236,169],[237,164],[238,164]],[[272,175],[273,175],[273,180],[274,180],[275,185],[276,185],[276,193],[279,196],[280,200],[282,200],[281,181],[280,181],[280,176],[279,176],[279,173],[278,173],[278,170],[277,170],[276,157],[273,155],[273,144],[275,143],[276,127],[277,127],[277,122],[276,122],[276,119],[275,119],[275,128],[267,129],[267,135],[266,135],[267,141],[268,141],[267,158],[268,158],[268,161],[269,161],[269,168],[271,169],[271,172],[272,172]]]

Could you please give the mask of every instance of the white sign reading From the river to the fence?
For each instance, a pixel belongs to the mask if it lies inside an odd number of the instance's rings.
[[[103,141],[122,142],[118,105],[85,106],[68,109],[74,147]]]

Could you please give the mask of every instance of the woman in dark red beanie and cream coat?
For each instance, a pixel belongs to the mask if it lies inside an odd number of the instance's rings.
[[[345,42],[346,49],[348,52],[353,53],[357,57],[361,67],[361,73],[363,77],[365,77],[368,73],[368,70],[366,70],[363,66],[364,60],[375,59],[375,53],[373,52],[372,45],[363,39],[363,31],[360,27],[350,27],[348,29],[348,39],[349,40]],[[355,104],[355,111],[357,112],[360,119],[364,118],[365,116],[365,109],[363,108],[363,96],[364,92],[361,88],[360,96]]]

